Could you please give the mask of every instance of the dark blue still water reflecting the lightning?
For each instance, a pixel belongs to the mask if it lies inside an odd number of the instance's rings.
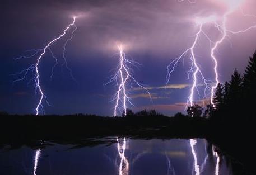
[[[113,138],[117,139],[117,138]],[[187,175],[232,174],[224,156],[204,139],[132,140],[70,149],[54,145],[32,150],[0,150],[1,175]]]

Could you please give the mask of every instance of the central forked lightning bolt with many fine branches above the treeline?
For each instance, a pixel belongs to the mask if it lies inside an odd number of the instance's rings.
[[[119,49],[119,65],[117,67],[117,72],[111,77],[110,81],[106,83],[105,85],[115,82],[118,86],[118,90],[115,93],[113,100],[115,101],[115,107],[114,107],[114,116],[117,116],[118,110],[120,110],[120,103],[122,104],[122,108],[124,109],[124,115],[127,115],[127,103],[129,103],[131,106],[134,106],[131,102],[131,98],[128,96],[127,93],[127,84],[132,88],[132,82],[137,84],[138,87],[141,87],[145,89],[145,91],[148,93],[150,99],[151,94],[148,91],[146,87],[143,86],[143,84],[136,81],[136,79],[132,75],[132,68],[129,66],[136,66],[139,65],[138,62],[134,62],[131,59],[126,58],[126,54],[123,51],[122,45],[118,45]]]

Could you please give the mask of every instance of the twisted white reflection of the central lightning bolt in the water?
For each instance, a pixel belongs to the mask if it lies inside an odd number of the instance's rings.
[[[119,164],[119,175],[128,175],[129,174],[129,162],[125,157],[126,150],[126,139],[123,138],[123,145],[120,145],[120,141],[117,138],[117,150],[120,157]]]

